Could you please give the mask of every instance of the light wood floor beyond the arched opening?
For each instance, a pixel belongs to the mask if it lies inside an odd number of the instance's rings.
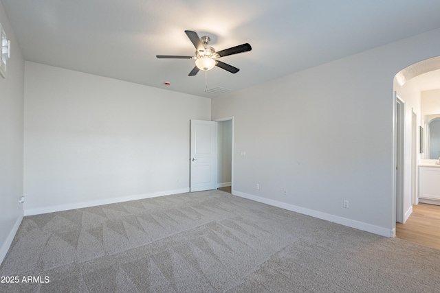
[[[396,223],[396,237],[440,250],[440,206],[413,205],[406,223]]]

